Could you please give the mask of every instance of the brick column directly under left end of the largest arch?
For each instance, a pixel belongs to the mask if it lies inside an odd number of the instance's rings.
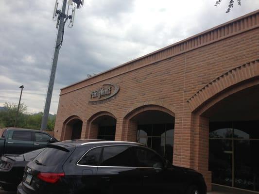
[[[192,168],[203,174],[207,184],[207,191],[211,191],[211,171],[208,171],[209,119],[193,114],[191,125],[193,129]]]

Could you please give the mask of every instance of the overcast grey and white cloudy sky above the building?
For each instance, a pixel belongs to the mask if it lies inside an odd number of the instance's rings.
[[[85,0],[73,28],[65,28],[52,95],[57,112],[60,88],[166,47],[259,9],[259,0]],[[22,102],[43,111],[51,69],[54,0],[0,0],[0,106]],[[62,0],[59,0],[62,4]]]

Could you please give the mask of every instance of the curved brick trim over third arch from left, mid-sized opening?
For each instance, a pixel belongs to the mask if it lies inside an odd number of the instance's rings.
[[[175,111],[172,105],[168,105],[164,102],[157,101],[157,100],[150,100],[150,101],[138,103],[135,106],[131,107],[125,113],[122,114],[122,118],[129,119],[128,117],[131,114],[136,112],[136,115],[137,115],[138,113],[143,112],[144,109],[145,111],[148,111],[148,110],[162,111],[162,112],[169,113],[173,117],[175,116]],[[130,117],[132,118],[133,116],[130,116]]]

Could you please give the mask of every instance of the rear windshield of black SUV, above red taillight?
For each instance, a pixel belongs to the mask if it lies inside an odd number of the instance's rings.
[[[43,150],[34,160],[33,162],[37,164],[41,164],[44,166],[56,166],[60,162],[63,162],[69,152],[55,149],[52,147],[48,147],[45,150]]]

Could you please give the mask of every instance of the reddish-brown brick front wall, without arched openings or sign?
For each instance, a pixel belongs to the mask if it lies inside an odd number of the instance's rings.
[[[82,137],[94,138],[95,133],[86,131],[87,121],[103,111],[117,118],[116,140],[134,140],[134,124],[128,123],[125,115],[141,104],[159,104],[175,115],[173,163],[201,171],[210,189],[207,120],[196,114],[187,101],[210,81],[257,59],[259,10],[63,88],[55,136],[60,139],[64,121],[77,115],[83,121]],[[117,97],[89,105],[90,93],[105,83],[121,87]]]

